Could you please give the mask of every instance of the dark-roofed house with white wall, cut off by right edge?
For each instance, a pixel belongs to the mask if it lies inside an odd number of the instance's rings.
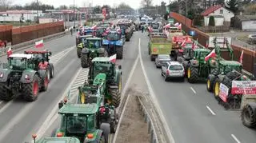
[[[231,19],[232,26],[244,31],[256,30],[256,15],[238,15]]]

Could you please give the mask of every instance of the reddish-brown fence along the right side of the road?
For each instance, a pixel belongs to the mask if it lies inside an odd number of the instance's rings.
[[[170,17],[174,18],[175,21],[182,23],[182,30],[184,30],[186,33],[189,33],[191,30],[195,31],[195,35],[193,36],[194,40],[198,39],[198,43],[200,43],[202,46],[206,46],[206,43],[209,41],[209,35],[203,33],[202,31],[192,27],[192,22],[189,18],[186,18],[182,16],[181,14],[177,13],[170,13]],[[234,50],[234,60],[238,61],[238,58],[240,57],[242,50],[244,51],[243,54],[243,69],[253,73],[254,76],[256,75],[256,64],[255,64],[255,50],[248,50],[245,47],[240,46],[234,46],[231,45]],[[229,60],[230,56],[228,52],[223,51],[222,52],[222,58]]]

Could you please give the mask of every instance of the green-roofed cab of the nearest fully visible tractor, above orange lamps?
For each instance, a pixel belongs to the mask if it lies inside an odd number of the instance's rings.
[[[77,137],[82,142],[97,140],[98,123],[96,113],[97,104],[70,104],[59,106],[61,126],[57,129],[57,137]]]

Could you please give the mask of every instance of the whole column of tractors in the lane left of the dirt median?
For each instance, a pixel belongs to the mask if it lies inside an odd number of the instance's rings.
[[[34,142],[66,141],[74,143],[110,143],[110,133],[118,125],[116,108],[122,93],[122,66],[116,67],[110,56],[122,59],[124,41],[129,41],[133,30],[130,22],[118,22],[119,27],[109,28],[111,22],[98,23],[98,28],[83,27],[78,30],[77,54],[82,68],[89,68],[88,79],[78,87],[75,101],[64,97],[58,103],[61,121],[52,137],[42,137]],[[104,30],[102,27],[106,26]],[[124,26],[124,27],[122,27]],[[101,30],[101,33],[98,33]],[[98,37],[95,34],[98,33]]]

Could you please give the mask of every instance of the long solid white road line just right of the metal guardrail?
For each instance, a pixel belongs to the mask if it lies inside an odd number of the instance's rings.
[[[172,136],[171,132],[170,132],[170,128],[169,128],[169,125],[167,124],[167,121],[166,121],[166,117],[165,117],[165,114],[162,113],[162,109],[160,108],[159,106],[159,103],[158,103],[158,98],[157,96],[155,95],[154,93],[154,90],[153,90],[153,87],[152,85],[150,84],[150,80],[146,74],[146,70],[145,70],[145,66],[143,65],[143,61],[142,61],[142,51],[141,51],[141,38],[138,39],[138,54],[139,54],[139,58],[140,58],[140,63],[141,63],[141,66],[142,66],[142,72],[144,73],[144,76],[145,76],[145,80],[146,80],[146,85],[148,86],[149,88],[149,91],[150,91],[150,95],[151,97],[153,98],[153,102],[154,102],[154,105],[159,113],[159,116],[162,120],[162,124],[163,124],[163,127],[166,131],[166,134],[168,135],[169,137],[169,140],[168,142],[170,143],[175,143],[174,141],[174,137]]]

